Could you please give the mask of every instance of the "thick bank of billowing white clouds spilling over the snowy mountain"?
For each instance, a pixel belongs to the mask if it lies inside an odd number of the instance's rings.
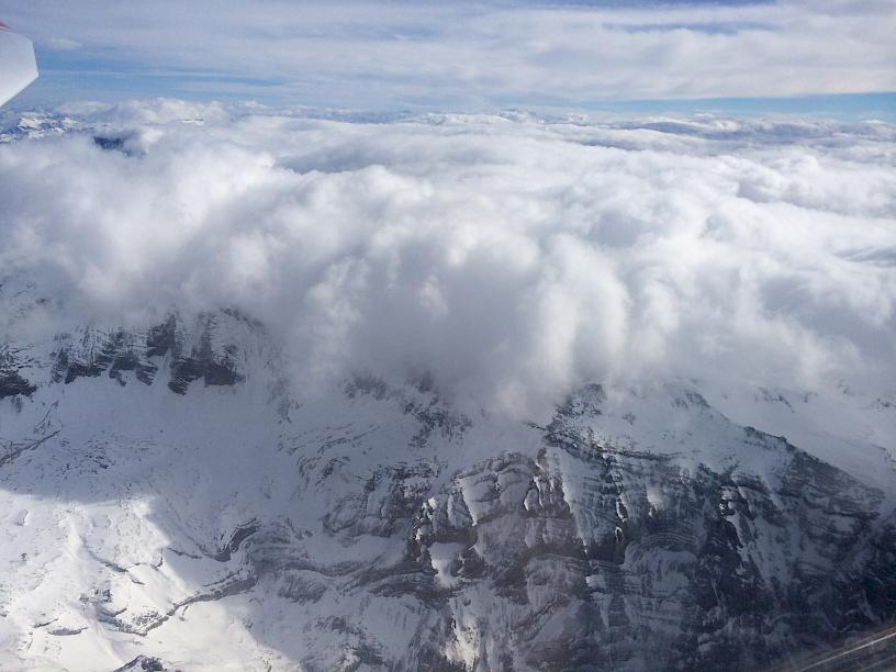
[[[236,306],[296,380],[432,373],[512,410],[896,380],[892,125],[68,112],[0,144],[0,275],[81,318]]]

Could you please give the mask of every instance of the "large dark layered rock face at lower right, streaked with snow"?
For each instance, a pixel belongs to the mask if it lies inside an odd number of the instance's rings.
[[[383,466],[347,490],[347,458],[306,462],[309,483],[341,493],[320,534],[347,555],[312,559],[305,536],[262,525],[246,562],[260,585],[324,612],[327,594],[415,604],[426,617],[400,658],[362,617],[316,626],[373,669],[748,670],[894,617],[881,492],[696,393],[668,403],[709,414],[730,441],[716,455],[761,451],[761,469],[614,447],[595,432],[601,401],[592,388],[561,407],[536,456],[494,446],[447,479]],[[352,553],[370,536],[404,550]]]

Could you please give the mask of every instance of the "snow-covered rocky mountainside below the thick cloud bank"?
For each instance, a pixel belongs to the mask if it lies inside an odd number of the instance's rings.
[[[287,370],[226,311],[3,346],[0,667],[757,669],[896,618],[888,458],[691,384],[536,424]]]

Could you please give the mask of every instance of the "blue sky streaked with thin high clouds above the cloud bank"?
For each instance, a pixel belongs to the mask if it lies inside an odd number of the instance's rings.
[[[0,20],[42,71],[20,107],[896,114],[891,0],[0,0]]]

